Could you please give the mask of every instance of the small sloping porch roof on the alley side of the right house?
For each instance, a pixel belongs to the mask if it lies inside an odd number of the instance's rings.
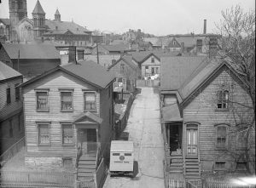
[[[162,122],[182,122],[177,103],[162,107]]]

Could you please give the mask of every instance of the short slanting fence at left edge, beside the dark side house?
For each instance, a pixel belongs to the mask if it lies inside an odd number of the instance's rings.
[[[25,146],[25,137],[17,141],[14,145],[12,145],[7,151],[4,151],[0,156],[0,162],[7,162],[9,159],[15,156],[23,147]]]

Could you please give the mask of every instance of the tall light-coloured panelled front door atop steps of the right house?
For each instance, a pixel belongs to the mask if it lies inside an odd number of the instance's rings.
[[[187,126],[187,157],[197,157],[198,147],[197,126]]]

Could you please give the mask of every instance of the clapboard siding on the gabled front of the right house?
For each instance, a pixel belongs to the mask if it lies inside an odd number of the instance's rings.
[[[227,167],[232,168],[231,161],[235,161],[234,158],[227,155],[228,151],[231,152],[243,152],[237,150],[236,147],[236,134],[231,134],[236,131],[233,109],[239,109],[240,111],[246,111],[247,108],[241,105],[233,105],[230,107],[230,111],[218,111],[216,110],[216,94],[219,89],[222,88],[222,84],[226,86],[233,85],[233,93],[230,92],[230,99],[241,104],[252,104],[249,95],[241,87],[241,84],[237,81],[237,78],[229,71],[219,71],[217,76],[207,83],[207,86],[203,88],[199,94],[194,96],[194,99],[189,102],[183,109],[183,122],[200,122],[199,125],[199,148],[201,154],[202,170],[211,170],[214,161],[226,161]],[[237,116],[235,116],[239,119]],[[248,113],[247,118],[252,118],[253,113]],[[219,151],[215,148],[216,143],[216,127],[214,125],[220,123],[227,123],[230,126],[227,151]],[[255,134],[252,134],[251,145],[255,145]],[[252,150],[254,147],[252,147]],[[255,150],[254,150],[255,156]],[[208,163],[207,163],[208,162]]]

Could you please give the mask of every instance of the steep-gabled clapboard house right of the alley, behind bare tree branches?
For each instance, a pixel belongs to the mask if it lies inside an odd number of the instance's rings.
[[[225,60],[161,59],[161,122],[170,174],[201,185],[216,174],[255,173],[255,130],[247,84]]]

